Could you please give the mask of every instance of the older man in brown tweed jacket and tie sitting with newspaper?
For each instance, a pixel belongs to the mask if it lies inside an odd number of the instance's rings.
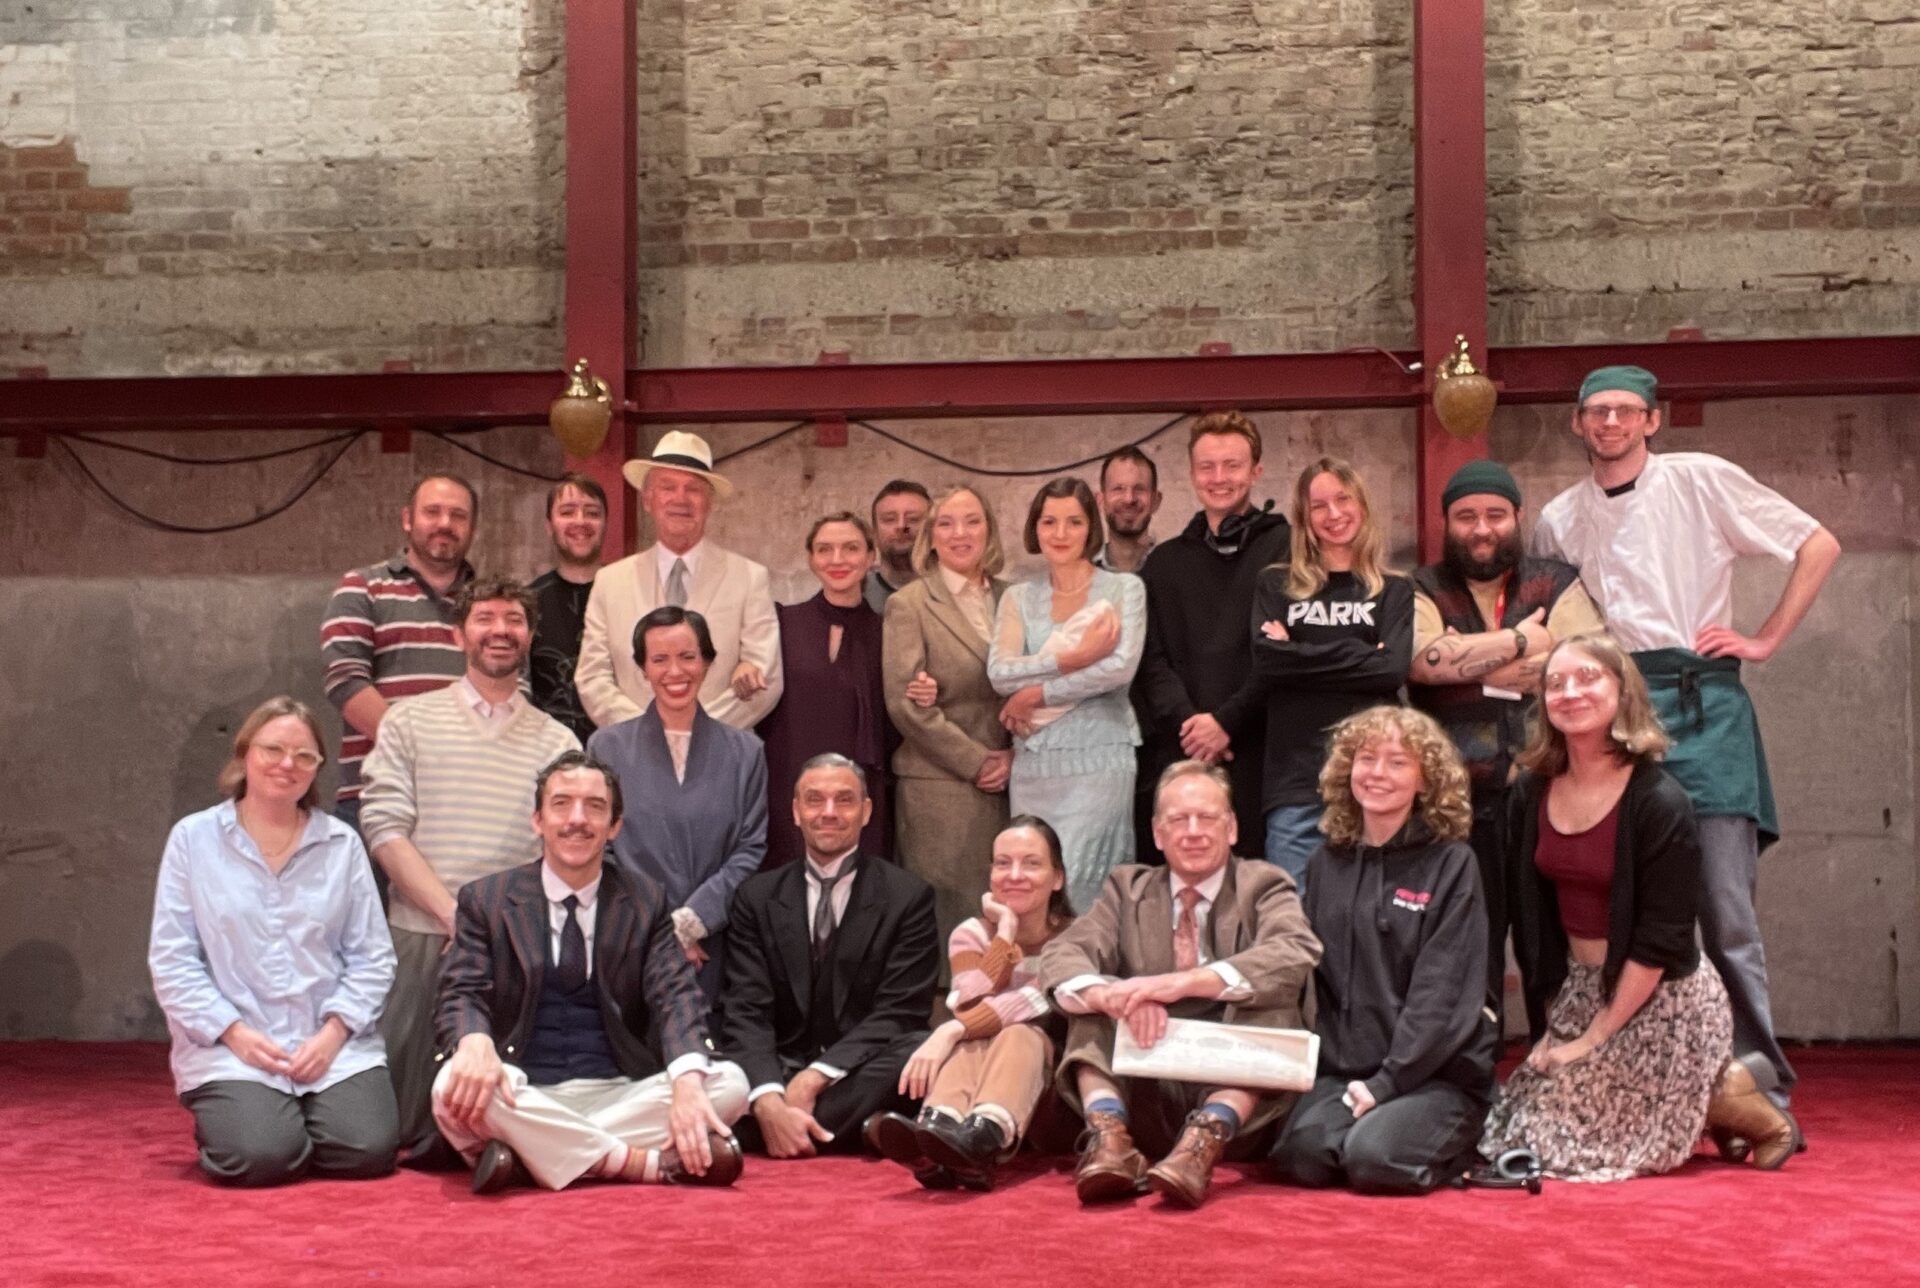
[[[1233,856],[1238,827],[1227,775],[1198,760],[1167,766],[1154,791],[1165,868],[1116,868],[1098,902],[1041,954],[1041,985],[1069,1019],[1056,1090],[1087,1119],[1073,1184],[1083,1204],[1131,1198],[1148,1182],[1183,1207],[1206,1198],[1233,1148],[1260,1152],[1292,1094],[1121,1079],[1114,1037],[1125,1023],[1152,1046],[1167,1017],[1302,1027],[1302,996],[1321,944],[1292,877]],[[1154,1167],[1133,1131],[1156,1154]],[[1238,1142],[1236,1142],[1238,1138]]]

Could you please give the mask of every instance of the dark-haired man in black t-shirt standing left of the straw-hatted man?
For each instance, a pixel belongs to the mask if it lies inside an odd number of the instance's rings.
[[[607,489],[586,474],[566,474],[553,484],[547,491],[547,536],[553,537],[553,568],[528,585],[540,622],[526,658],[526,680],[534,689],[534,706],[584,743],[593,737],[593,718],[574,689],[574,664],[607,537]]]

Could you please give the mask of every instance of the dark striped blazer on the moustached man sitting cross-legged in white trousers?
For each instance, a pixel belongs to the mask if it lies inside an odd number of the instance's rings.
[[[501,1060],[526,1052],[547,973],[547,893],[541,862],[461,889],[453,944],[440,971],[434,1033],[451,1054],[488,1033]],[[593,914],[593,983],[620,1073],[653,1077],[680,1056],[707,1054],[707,996],[674,939],[660,887],[612,864],[601,868]]]

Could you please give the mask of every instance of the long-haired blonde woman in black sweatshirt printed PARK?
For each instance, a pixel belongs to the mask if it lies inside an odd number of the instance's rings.
[[[1321,457],[1294,484],[1292,559],[1254,589],[1254,676],[1267,703],[1265,854],[1294,881],[1321,843],[1327,729],[1394,701],[1413,664],[1413,584],[1352,465]]]

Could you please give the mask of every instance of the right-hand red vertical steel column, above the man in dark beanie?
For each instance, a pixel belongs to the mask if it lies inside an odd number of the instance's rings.
[[[1486,10],[1482,0],[1413,4],[1413,315],[1427,388],[1467,336],[1486,370]],[[1440,557],[1440,493],[1486,436],[1461,441],[1419,411],[1421,561]]]

